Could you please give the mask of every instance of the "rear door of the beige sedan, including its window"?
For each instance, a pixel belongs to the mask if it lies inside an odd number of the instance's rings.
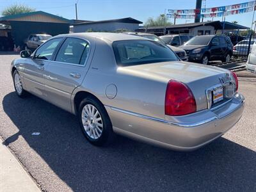
[[[46,68],[45,92],[47,100],[71,111],[70,98],[74,89],[79,86],[90,67],[95,40],[82,38],[65,39],[54,61]]]

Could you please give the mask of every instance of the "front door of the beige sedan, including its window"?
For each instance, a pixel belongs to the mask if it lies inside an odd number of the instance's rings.
[[[44,93],[45,68],[51,60],[62,38],[55,38],[46,42],[42,47],[36,50],[35,54],[22,63],[23,78],[25,88],[43,99],[46,98]]]

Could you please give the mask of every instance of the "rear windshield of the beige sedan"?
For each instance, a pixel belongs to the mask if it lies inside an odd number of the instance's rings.
[[[116,41],[113,49],[117,64],[124,67],[179,60],[169,47],[149,40]]]

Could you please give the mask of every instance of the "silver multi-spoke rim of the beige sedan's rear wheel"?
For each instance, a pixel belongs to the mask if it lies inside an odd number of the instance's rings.
[[[81,118],[86,134],[94,140],[100,138],[103,131],[103,122],[98,109],[92,104],[86,104],[83,107]]]

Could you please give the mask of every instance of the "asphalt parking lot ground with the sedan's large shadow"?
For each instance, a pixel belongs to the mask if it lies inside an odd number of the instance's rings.
[[[76,116],[17,97],[10,75],[17,57],[0,55],[0,137],[43,191],[256,191],[255,75],[238,72],[243,117],[204,148],[174,152],[122,136],[99,148]]]

